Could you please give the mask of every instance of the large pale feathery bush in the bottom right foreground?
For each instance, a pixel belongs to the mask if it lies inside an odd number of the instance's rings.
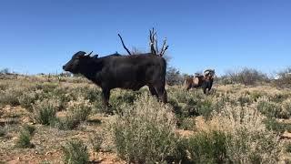
[[[265,117],[255,105],[228,107],[218,114],[219,124],[231,135],[227,156],[234,163],[276,163],[281,147],[273,131],[266,128]]]

